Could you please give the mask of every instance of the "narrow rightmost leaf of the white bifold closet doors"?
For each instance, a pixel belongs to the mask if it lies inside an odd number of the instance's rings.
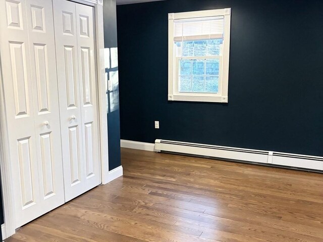
[[[83,159],[86,189],[101,183],[99,160],[97,79],[94,47],[94,8],[76,5],[78,65],[81,93]]]

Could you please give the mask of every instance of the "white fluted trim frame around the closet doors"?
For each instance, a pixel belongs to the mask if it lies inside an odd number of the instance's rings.
[[[52,0],[56,1],[56,0]],[[103,0],[71,0],[72,2],[94,7],[96,68],[98,88],[98,117],[99,117],[99,142],[101,161],[101,182],[109,182],[109,157],[107,144],[107,113],[106,113],[106,87],[104,80],[104,36],[103,36]],[[1,53],[0,53],[1,55]],[[3,191],[4,226],[2,227],[3,239],[16,232],[12,167],[9,154],[9,136],[7,128],[5,95],[3,89],[3,76],[0,59],[0,166]],[[63,172],[63,171],[62,171]]]

